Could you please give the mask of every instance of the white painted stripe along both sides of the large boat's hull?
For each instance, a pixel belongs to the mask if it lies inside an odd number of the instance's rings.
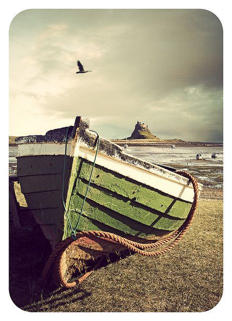
[[[29,155],[64,155],[64,152],[64,143],[32,143],[18,146],[18,157]],[[67,155],[80,156],[93,162],[95,150],[80,146],[78,143],[74,147],[69,143],[67,144]],[[96,164],[170,196],[188,202],[193,201],[194,192],[192,185],[187,185],[188,180],[159,166],[154,166],[154,168],[147,170],[142,168],[142,166],[133,166],[100,152],[97,154]],[[202,185],[198,185],[201,190]]]

